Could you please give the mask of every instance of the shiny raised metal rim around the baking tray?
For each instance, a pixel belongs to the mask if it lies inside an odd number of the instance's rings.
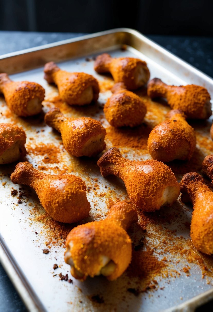
[[[196,67],[190,65],[186,61],[183,61],[180,57],[174,55],[170,51],[166,50],[164,47],[152,41],[151,39],[147,38],[146,36],[141,34],[141,32],[138,32],[135,29],[126,28],[126,27],[114,28],[111,30],[96,32],[92,34],[74,37],[71,39],[65,39],[61,41],[52,42],[52,43],[48,43],[45,45],[24,49],[24,50],[6,53],[0,56],[0,60],[6,60],[14,56],[24,55],[24,54],[32,53],[35,51],[43,51],[52,47],[70,44],[72,42],[83,41],[83,40],[92,39],[95,37],[102,37],[108,34],[113,34],[113,33],[116,34],[116,33],[121,33],[121,32],[125,32],[125,33],[138,37],[139,39],[141,39],[141,41],[144,41],[147,44],[151,45],[154,49],[156,49],[160,53],[163,53],[167,57],[173,59],[173,61],[185,67],[186,69],[190,70],[191,72],[195,73],[196,75],[200,76],[201,79],[206,80],[208,83],[212,84],[213,86],[213,78],[206,75],[202,71],[198,70]],[[22,270],[17,266],[16,261],[13,258],[12,254],[10,254],[10,252],[4,246],[4,240],[1,234],[0,234],[0,262],[4,270],[6,271],[7,275],[9,276],[12,284],[14,285],[20,297],[22,298],[26,308],[30,312],[46,311],[46,309],[42,306],[42,303],[38,299],[37,295],[31,289],[31,286],[28,284],[27,280],[25,280],[24,274],[22,275]],[[161,312],[193,312],[198,306],[210,301],[211,299],[213,299],[213,288],[208,291],[205,291],[204,293],[200,295],[197,295],[191,298],[190,300],[187,300],[181,303],[180,305],[173,306],[166,310],[161,310]]]

